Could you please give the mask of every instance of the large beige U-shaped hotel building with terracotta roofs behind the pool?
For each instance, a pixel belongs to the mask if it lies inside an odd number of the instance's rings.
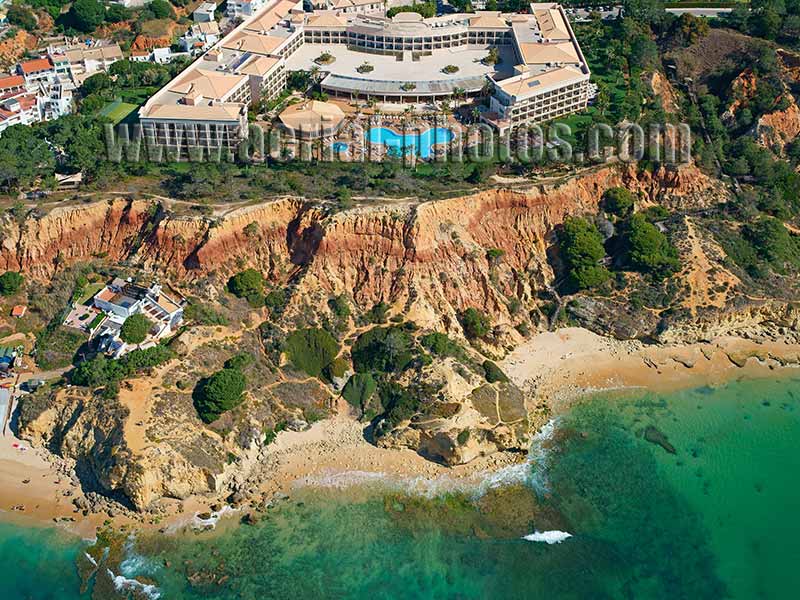
[[[316,66],[320,87],[351,100],[424,103],[489,94],[483,121],[505,133],[579,111],[589,68],[563,9],[436,16],[383,14],[366,0],[272,0],[156,93],[140,109],[144,132],[170,146],[187,130],[196,143],[237,146],[247,108],[286,87],[289,71]],[[487,61],[491,48],[499,59]],[[325,60],[321,60],[324,57]]]

